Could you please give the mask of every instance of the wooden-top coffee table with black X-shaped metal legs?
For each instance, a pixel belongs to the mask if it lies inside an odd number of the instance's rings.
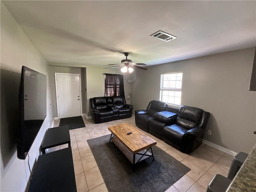
[[[113,142],[122,153],[132,163],[133,169],[135,164],[147,158],[154,159],[152,146],[156,141],[144,133],[140,132],[128,123],[111,126],[108,128],[111,132],[110,141]],[[127,134],[132,132],[131,134]],[[149,150],[151,152],[149,152]]]

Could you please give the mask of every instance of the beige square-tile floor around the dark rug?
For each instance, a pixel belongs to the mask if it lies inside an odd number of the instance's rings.
[[[133,115],[131,118],[101,124],[94,124],[92,119],[86,119],[84,116],[83,120],[86,125],[85,128],[70,130],[76,188],[78,192],[105,192],[108,190],[90,147],[88,146],[87,140],[110,134],[108,127],[117,124],[129,123],[137,128],[135,118]],[[55,120],[54,127],[57,127],[59,123],[60,120]],[[141,129],[139,130],[144,132]],[[191,171],[180,178],[180,180],[170,186],[166,192],[206,192],[207,185],[215,174],[222,174],[223,176],[228,175],[228,170],[233,158],[231,155],[206,144],[202,144],[190,155],[184,154],[151,134],[144,133],[154,138],[159,148],[191,169]],[[48,152],[66,147],[67,144],[57,146],[50,148]]]

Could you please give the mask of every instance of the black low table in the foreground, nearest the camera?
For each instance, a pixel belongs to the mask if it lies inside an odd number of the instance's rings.
[[[71,147],[38,157],[28,192],[76,192]]]

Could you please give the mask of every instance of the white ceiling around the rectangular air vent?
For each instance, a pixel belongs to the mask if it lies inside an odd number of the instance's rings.
[[[256,45],[256,1],[3,2],[51,62],[107,66],[130,52],[156,65]]]

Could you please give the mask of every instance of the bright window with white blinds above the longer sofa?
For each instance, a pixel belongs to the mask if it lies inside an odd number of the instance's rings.
[[[182,72],[161,74],[160,100],[180,106]]]

